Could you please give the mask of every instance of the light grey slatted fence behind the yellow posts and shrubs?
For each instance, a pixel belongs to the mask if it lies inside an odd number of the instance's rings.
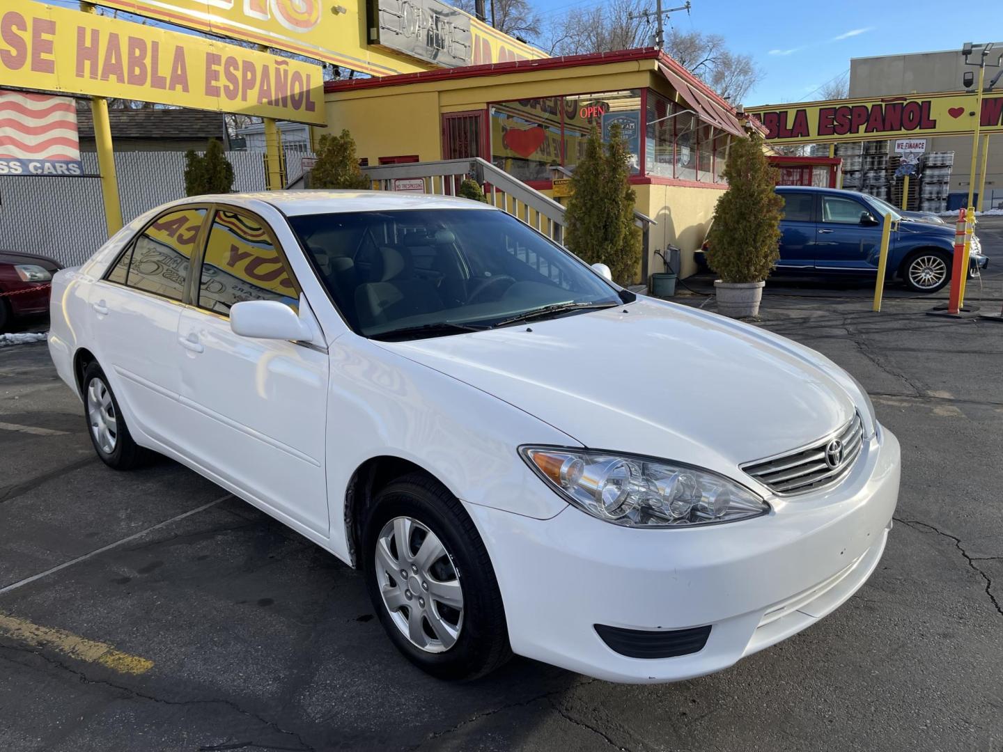
[[[302,172],[299,149],[286,149],[289,178]],[[84,171],[97,173],[97,155],[80,155]],[[235,191],[264,191],[263,151],[230,151]],[[122,219],[185,197],[185,153],[122,151],[115,154]],[[0,249],[50,256],[72,266],[86,261],[104,241],[104,206],[96,177],[0,176]]]

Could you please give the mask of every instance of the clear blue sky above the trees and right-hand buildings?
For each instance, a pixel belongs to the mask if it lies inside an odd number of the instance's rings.
[[[550,16],[571,7],[595,7],[597,0],[531,0]],[[650,0],[655,7],[654,0]],[[663,0],[665,7],[683,1]],[[1003,37],[1003,3],[972,0],[849,0],[776,2],[692,0],[693,9],[673,13],[681,30],[721,34],[736,52],[752,55],[763,70],[762,81],[744,104],[817,99],[825,81],[850,70],[851,57],[928,52],[960,48],[980,33]],[[961,82],[958,82],[961,88]]]

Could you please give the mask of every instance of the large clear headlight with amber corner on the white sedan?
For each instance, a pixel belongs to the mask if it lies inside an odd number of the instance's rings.
[[[575,506],[626,527],[692,527],[769,511],[765,501],[735,481],[666,459],[553,446],[519,451]]]

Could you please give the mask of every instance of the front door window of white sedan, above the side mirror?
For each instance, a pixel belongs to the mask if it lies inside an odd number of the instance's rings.
[[[199,279],[199,307],[228,316],[235,303],[277,300],[297,310],[300,288],[274,236],[259,219],[220,211]]]

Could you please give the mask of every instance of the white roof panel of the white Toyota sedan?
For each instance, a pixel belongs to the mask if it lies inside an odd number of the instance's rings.
[[[219,202],[253,209],[264,202],[289,217],[342,212],[393,212],[414,209],[492,209],[485,204],[451,196],[392,191],[263,191],[245,194],[192,196],[175,204]]]

